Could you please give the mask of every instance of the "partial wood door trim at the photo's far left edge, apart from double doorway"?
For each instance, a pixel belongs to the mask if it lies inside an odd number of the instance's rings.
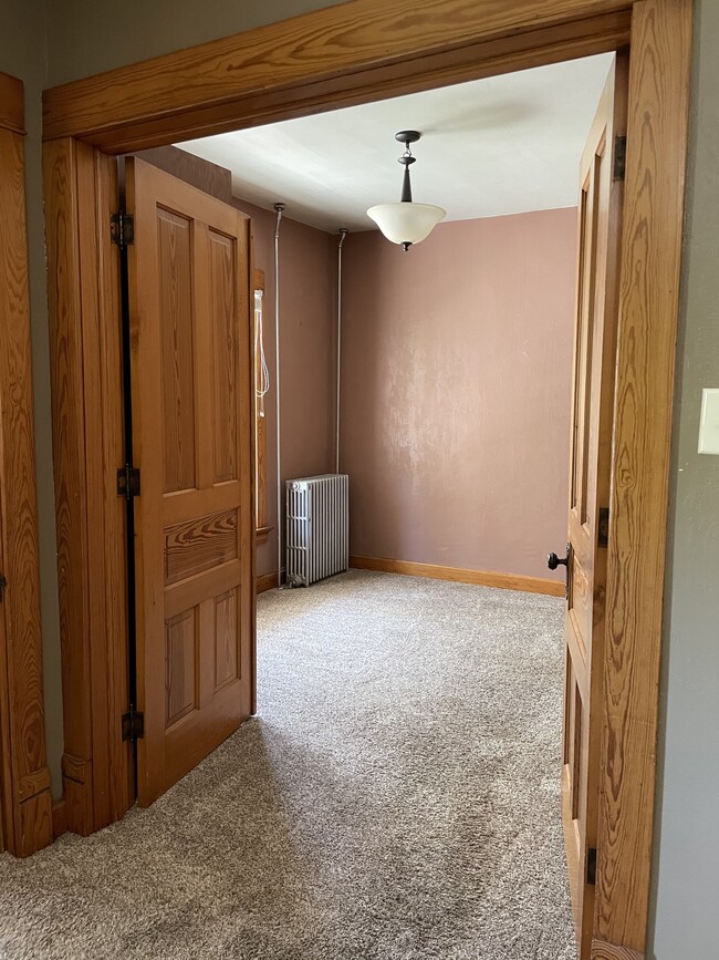
[[[40,627],[24,190],[24,91],[0,73],[0,817],[6,849],[52,840]],[[4,637],[4,643],[2,638]]]

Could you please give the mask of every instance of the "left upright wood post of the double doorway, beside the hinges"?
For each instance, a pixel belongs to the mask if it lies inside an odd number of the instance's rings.
[[[116,163],[72,140],[44,151],[53,461],[63,648],[69,829],[87,834],[132,805],[119,280],[108,234]],[[92,530],[92,536],[90,535]]]

